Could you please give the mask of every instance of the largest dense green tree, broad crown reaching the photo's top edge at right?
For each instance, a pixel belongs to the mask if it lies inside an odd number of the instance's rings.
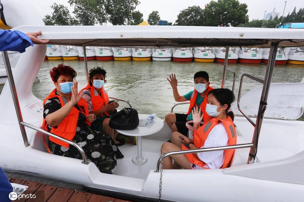
[[[237,26],[248,22],[247,4],[237,0],[218,0],[207,4],[204,12],[205,26]]]

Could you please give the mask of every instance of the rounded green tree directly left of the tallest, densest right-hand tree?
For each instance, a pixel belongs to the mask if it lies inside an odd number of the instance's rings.
[[[181,26],[203,26],[204,10],[199,6],[189,6],[181,10],[174,25]]]

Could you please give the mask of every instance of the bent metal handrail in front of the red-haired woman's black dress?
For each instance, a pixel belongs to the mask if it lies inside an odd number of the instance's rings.
[[[84,150],[81,148],[81,146],[79,146],[77,143],[74,143],[74,142],[72,142],[72,141],[70,141],[70,140],[64,139],[64,138],[62,138],[62,137],[60,137],[60,136],[57,136],[57,135],[55,135],[55,134],[53,134],[53,133],[49,133],[49,132],[47,132],[46,130],[43,130],[43,129],[41,129],[41,128],[38,128],[38,127],[36,127],[36,126],[33,126],[33,125],[29,124],[29,123],[25,123],[25,122],[22,121],[22,122],[20,122],[20,124],[21,124],[22,126],[29,127],[29,128],[31,128],[31,129],[33,129],[33,130],[36,130],[36,131],[40,132],[40,133],[46,134],[46,135],[48,135],[48,136],[54,137],[54,138],[56,138],[56,139],[58,139],[58,140],[61,140],[61,141],[65,142],[65,143],[68,143],[68,144],[70,144],[70,145],[73,145],[73,146],[76,147],[76,148],[78,149],[78,151],[81,153],[81,156],[82,156],[82,159],[83,159],[83,161],[82,161],[81,163],[86,164],[86,165],[88,165],[88,164],[90,163],[90,162],[88,162],[87,155],[85,154],[85,151],[84,151]]]

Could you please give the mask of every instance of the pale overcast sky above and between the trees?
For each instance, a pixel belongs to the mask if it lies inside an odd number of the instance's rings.
[[[41,17],[43,18],[47,14],[51,14],[53,11],[50,6],[56,2],[57,4],[66,5],[70,12],[73,12],[73,8],[67,3],[68,0],[31,0],[33,5],[39,10]],[[143,19],[147,20],[150,12],[157,10],[162,20],[168,20],[169,22],[175,22],[179,12],[188,6],[199,5],[201,8],[205,7],[205,4],[210,1],[204,0],[141,0],[140,5],[136,7],[143,13]],[[241,3],[248,5],[249,19],[263,19],[264,11],[271,12],[275,7],[275,11],[283,14],[284,0],[239,0]],[[292,12],[293,8],[296,7],[297,12],[299,8],[303,8],[303,0],[287,0],[285,13]],[[71,13],[72,14],[72,13]],[[72,14],[73,15],[73,14]]]

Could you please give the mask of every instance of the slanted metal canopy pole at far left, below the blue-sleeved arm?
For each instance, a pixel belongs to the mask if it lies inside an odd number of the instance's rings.
[[[16,110],[18,124],[19,124],[20,130],[21,130],[24,146],[27,147],[27,146],[29,146],[29,140],[27,139],[24,126],[21,125],[21,122],[23,122],[23,118],[22,118],[21,109],[20,109],[19,100],[18,100],[17,91],[16,91],[16,86],[15,86],[15,82],[14,82],[14,78],[13,78],[13,74],[12,74],[11,64],[9,62],[9,55],[7,54],[7,51],[2,51],[2,56],[3,56],[3,61],[4,61],[6,74],[7,74],[7,80],[9,81],[9,87],[11,89],[12,98],[13,98],[13,102],[14,102],[14,106],[15,106],[15,110]]]

